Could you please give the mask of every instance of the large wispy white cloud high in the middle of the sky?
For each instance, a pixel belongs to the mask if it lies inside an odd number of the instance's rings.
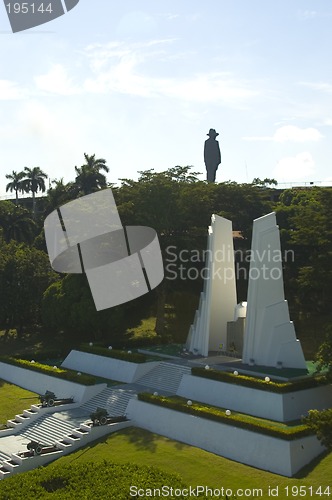
[[[259,95],[247,82],[237,80],[230,73],[204,73],[187,78],[147,76],[143,63],[160,56],[150,48],[169,44],[174,40],[154,40],[145,44],[121,43],[90,46],[86,49],[93,77],[84,82],[91,93],[119,92],[145,97],[171,97],[183,101],[231,104],[236,107]]]

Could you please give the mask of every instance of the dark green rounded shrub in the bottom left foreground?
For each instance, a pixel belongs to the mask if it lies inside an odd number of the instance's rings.
[[[54,464],[17,474],[0,481],[0,498],[1,500],[25,500],[26,498],[127,500],[130,498],[131,485],[144,488],[144,490],[154,488],[161,490],[164,485],[171,485],[174,489],[187,488],[180,476],[176,474],[170,474],[155,467],[120,465],[104,460],[103,462]],[[136,498],[134,494],[131,496]],[[147,497],[144,495],[144,498]],[[169,498],[174,497],[169,496]],[[176,498],[188,497],[180,494],[176,495]]]

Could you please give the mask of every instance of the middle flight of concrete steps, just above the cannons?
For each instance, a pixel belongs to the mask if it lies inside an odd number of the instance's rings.
[[[112,389],[107,387],[92,399],[84,403],[80,410],[87,415],[94,412],[97,407],[106,408],[108,414],[112,417],[125,415],[128,403],[136,395],[134,391],[126,389]]]

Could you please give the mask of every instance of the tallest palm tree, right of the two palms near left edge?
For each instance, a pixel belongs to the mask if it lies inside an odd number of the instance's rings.
[[[81,167],[75,167],[75,188],[78,193],[91,194],[99,189],[107,187],[106,177],[100,170],[109,172],[104,158],[96,158],[84,153],[86,163]]]

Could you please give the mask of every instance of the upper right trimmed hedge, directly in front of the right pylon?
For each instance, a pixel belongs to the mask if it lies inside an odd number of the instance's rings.
[[[249,375],[234,375],[230,372],[214,370],[212,368],[206,370],[205,368],[193,367],[191,369],[191,374],[195,377],[208,378],[211,380],[216,380],[217,382],[242,385],[245,387],[251,387],[252,389],[276,392],[279,394],[312,389],[314,387],[319,387],[321,385],[326,385],[329,383],[324,375],[295,380],[294,382],[266,382],[263,378],[251,377]]]

